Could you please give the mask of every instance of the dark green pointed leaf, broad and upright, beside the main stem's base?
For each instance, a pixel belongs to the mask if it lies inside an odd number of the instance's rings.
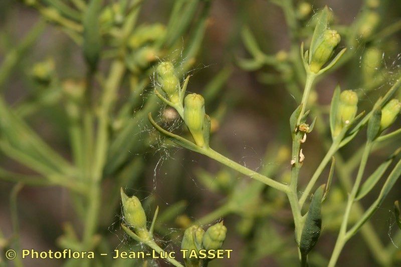
[[[306,215],[305,225],[302,229],[299,242],[299,249],[304,258],[306,258],[306,255],[315,246],[320,236],[322,228],[321,205],[325,187],[326,185],[323,184],[316,189],[309,206],[308,214]]]

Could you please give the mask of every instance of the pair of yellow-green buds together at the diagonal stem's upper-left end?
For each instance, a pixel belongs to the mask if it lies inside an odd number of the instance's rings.
[[[173,107],[184,120],[189,132],[191,133],[195,144],[199,147],[205,147],[205,136],[209,135],[210,129],[206,129],[205,120],[205,99],[198,94],[188,94],[184,99],[188,79],[185,80],[182,88],[179,79],[175,74],[171,62],[162,62],[156,68],[157,82],[159,87],[165,93],[164,98],[155,90],[157,96],[167,105]],[[208,131],[205,133],[205,131]]]

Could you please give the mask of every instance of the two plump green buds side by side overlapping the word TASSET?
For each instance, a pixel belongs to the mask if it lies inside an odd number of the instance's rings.
[[[220,249],[226,239],[226,233],[227,227],[223,225],[223,221],[210,226],[206,232],[198,225],[188,227],[181,242],[181,249],[187,250],[187,255],[190,256],[184,258],[185,265],[199,266],[200,260],[193,253],[199,255],[199,250],[201,249],[206,251]]]

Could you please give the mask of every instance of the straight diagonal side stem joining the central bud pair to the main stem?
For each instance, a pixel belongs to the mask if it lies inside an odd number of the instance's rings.
[[[256,171],[253,171],[251,169],[248,169],[247,167],[223,156],[222,154],[220,154],[219,152],[213,150],[212,148],[208,148],[208,149],[203,149],[202,153],[216,161],[219,161],[220,163],[223,163],[224,165],[242,173],[245,174],[255,180],[261,181],[262,183],[269,185],[273,188],[276,188],[280,191],[283,192],[289,192],[289,186],[286,184],[283,184],[281,182],[277,182],[269,177],[266,177],[265,175],[262,175]]]

